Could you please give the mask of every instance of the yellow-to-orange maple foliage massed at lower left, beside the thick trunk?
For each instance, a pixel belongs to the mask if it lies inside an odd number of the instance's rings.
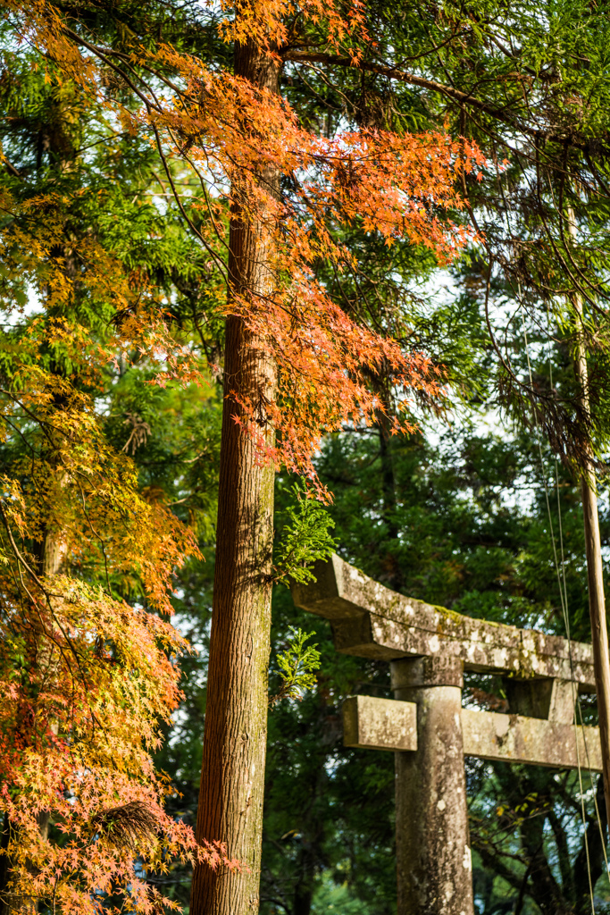
[[[100,910],[101,894],[126,893],[130,909],[157,911],[145,874],[175,858],[233,866],[166,815],[171,786],[151,761],[187,651],[160,614],[174,568],[197,546],[138,494],[132,461],[105,444],[91,400],[36,375],[2,404],[4,427],[30,446],[2,480],[0,505],[5,901],[85,913]],[[51,574],[49,551],[65,573]],[[143,586],[146,610],[113,597],[125,576]]]

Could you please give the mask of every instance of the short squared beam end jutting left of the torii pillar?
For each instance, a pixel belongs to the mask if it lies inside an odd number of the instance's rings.
[[[352,696],[343,703],[343,743],[369,749],[417,749],[417,706]]]

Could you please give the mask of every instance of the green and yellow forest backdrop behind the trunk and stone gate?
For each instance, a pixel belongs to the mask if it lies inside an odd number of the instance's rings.
[[[156,873],[145,864],[134,873],[186,912],[192,855],[171,823],[194,827],[197,816],[223,401],[219,227],[227,230],[229,192],[189,168],[195,136],[179,135],[180,155],[164,158],[161,146],[138,134],[128,117],[134,87],[111,58],[93,98],[52,55],[41,64],[39,48],[24,38],[22,7],[3,6],[3,554],[12,555],[11,525],[21,525],[20,548],[46,576],[59,581],[65,541],[70,574],[83,587],[105,589],[155,619],[166,619],[171,603],[179,635],[159,635],[156,661],[166,693],[138,693],[163,742],[152,732],[137,737],[155,772],[175,786],[165,798],[168,851]],[[140,42],[192,54],[214,73],[233,66],[216,5],[121,0],[58,8],[70,34],[95,37],[116,59]],[[342,422],[328,432],[313,458],[332,494],[324,508],[312,508],[319,503],[305,498],[303,478],[285,468],[275,474],[270,694],[282,688],[278,656],[294,628],[311,633],[320,660],[313,688],[270,708],[262,915],[396,911],[393,758],[343,748],[340,718],[348,695],[390,695],[388,665],[338,655],[326,621],[294,608],[291,573],[334,544],[402,594],[562,636],[565,610],[571,636],[591,638],[579,467],[591,447],[606,561],[608,12],[604,3],[577,0],[374,0],[358,66],[333,57],[321,38],[323,19],[301,22],[296,6],[286,12],[297,38],[284,57],[281,91],[311,135],[444,130],[476,144],[485,166],[456,178],[466,205],[449,201],[447,209],[470,235],[451,263],[407,237],[387,243],[357,218],[337,234],[357,253],[359,270],[337,270],[323,256],[313,263],[347,314],[441,367],[443,394],[412,394],[407,434],[395,435],[392,414],[382,410],[369,425]],[[134,72],[146,70],[144,58],[132,62]],[[156,90],[161,77],[179,75],[168,57],[155,66]],[[278,194],[293,193],[284,176]],[[574,373],[579,346],[589,365],[586,411]],[[391,382],[370,371],[368,384],[381,395]],[[88,480],[90,508],[82,514],[62,470],[67,456]],[[17,517],[17,488],[27,521]],[[165,577],[151,571],[151,556]],[[13,560],[2,562],[5,613],[23,592]],[[11,638],[2,664],[14,682],[28,664],[36,667],[40,649],[32,662],[27,637]],[[91,636],[92,664],[103,643]],[[178,656],[183,695],[173,710]],[[44,684],[36,689],[31,701],[42,707]],[[473,705],[506,707],[491,677],[467,675],[466,691]],[[52,729],[61,703],[45,701]],[[581,714],[596,720],[585,697]],[[2,727],[6,746],[15,721],[3,719]],[[132,725],[125,719],[121,727],[126,733]],[[123,730],[112,739],[119,748],[129,740]],[[467,761],[480,915],[588,911],[589,873],[595,911],[610,910],[603,791],[584,779]],[[5,813],[5,848],[7,823]],[[96,828],[105,827],[98,821]],[[57,825],[46,830],[67,847]],[[104,886],[108,908],[114,891],[112,881]]]

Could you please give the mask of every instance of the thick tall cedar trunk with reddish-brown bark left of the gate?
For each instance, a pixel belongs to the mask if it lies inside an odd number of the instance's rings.
[[[259,48],[235,49],[235,72],[255,86],[278,91],[279,68]],[[279,192],[275,171],[260,180]],[[273,288],[270,242],[241,217],[240,188],[232,189],[230,293],[261,296]],[[226,842],[241,872],[196,867],[190,915],[246,915],[259,908],[262,800],[267,739],[267,673],[271,630],[273,479],[257,460],[251,438],[234,417],[231,392],[258,404],[260,432],[273,444],[265,403],[276,370],[241,318],[226,327],[225,400],[220,444],[219,513],[209,674],[199,790],[197,838]]]

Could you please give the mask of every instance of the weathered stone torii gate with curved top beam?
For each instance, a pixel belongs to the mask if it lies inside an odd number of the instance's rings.
[[[330,620],[337,651],[391,665],[394,699],[343,705],[347,747],[395,751],[399,915],[474,915],[464,756],[601,772],[591,645],[471,619],[402,597],[337,555],[297,607]],[[463,671],[500,673],[508,715],[462,708]]]

